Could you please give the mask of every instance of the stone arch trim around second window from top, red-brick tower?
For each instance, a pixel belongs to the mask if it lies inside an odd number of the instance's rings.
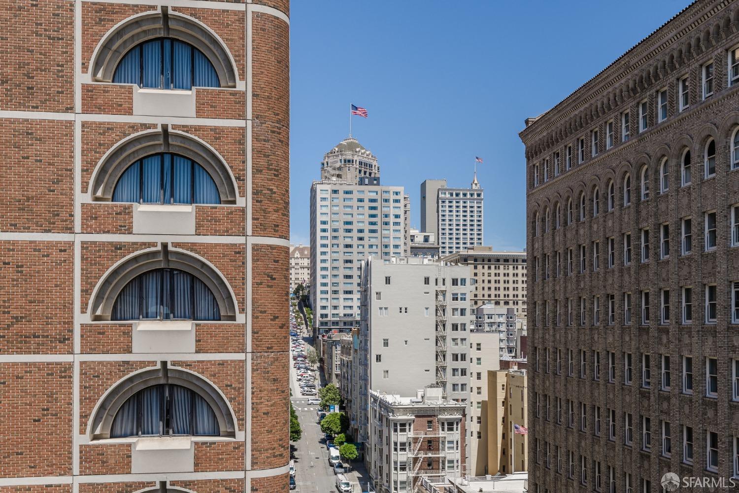
[[[166,125],[129,135],[108,149],[92,171],[87,187],[90,199],[110,202],[123,172],[137,160],[160,152],[180,154],[200,164],[213,178],[222,204],[238,200],[236,178],[225,158],[200,137]]]

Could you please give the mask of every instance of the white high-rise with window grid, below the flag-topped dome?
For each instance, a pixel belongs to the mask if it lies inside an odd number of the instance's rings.
[[[310,302],[317,333],[359,323],[361,261],[403,255],[402,186],[313,182],[310,188]]]

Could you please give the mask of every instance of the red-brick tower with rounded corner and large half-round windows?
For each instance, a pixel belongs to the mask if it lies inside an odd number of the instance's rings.
[[[289,1],[0,10],[0,492],[283,492]]]

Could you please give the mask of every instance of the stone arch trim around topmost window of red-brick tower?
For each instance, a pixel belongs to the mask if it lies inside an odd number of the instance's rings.
[[[238,70],[227,44],[210,27],[168,7],[123,19],[98,42],[89,61],[93,81],[112,82],[115,67],[135,45],[154,38],[175,38],[200,50],[216,69],[221,87],[236,87]]]

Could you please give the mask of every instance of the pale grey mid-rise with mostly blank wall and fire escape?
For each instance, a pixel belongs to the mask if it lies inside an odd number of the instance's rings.
[[[445,398],[469,398],[469,271],[408,257],[369,258],[361,276],[358,331],[361,441],[368,392],[414,395],[429,383]]]

